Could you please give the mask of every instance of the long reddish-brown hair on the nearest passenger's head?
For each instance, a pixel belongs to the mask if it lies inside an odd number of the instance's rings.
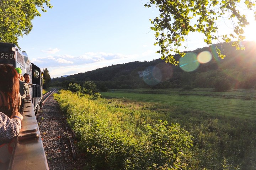
[[[18,111],[20,84],[15,68],[7,64],[0,65],[0,82],[0,91],[5,95],[8,109]]]

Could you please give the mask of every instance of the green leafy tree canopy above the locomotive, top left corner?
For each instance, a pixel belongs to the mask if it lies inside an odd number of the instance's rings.
[[[46,12],[45,6],[52,8],[50,0],[1,0],[0,41],[18,45],[18,37],[30,33],[31,21],[41,16],[38,9]]]

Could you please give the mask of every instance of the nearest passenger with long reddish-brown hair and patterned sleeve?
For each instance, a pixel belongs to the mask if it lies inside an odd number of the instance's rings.
[[[21,103],[19,89],[15,68],[0,65],[0,169],[11,158],[14,137],[21,129],[23,116],[18,112]]]

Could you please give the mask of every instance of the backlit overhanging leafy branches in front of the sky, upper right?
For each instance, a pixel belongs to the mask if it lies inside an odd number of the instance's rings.
[[[251,0],[244,1],[245,8],[255,12],[255,3]],[[180,46],[185,41],[185,36],[190,32],[204,34],[204,41],[210,45],[213,40],[233,42],[237,50],[244,49],[239,42],[245,39],[243,28],[249,24],[245,14],[242,14],[240,0],[149,0],[145,7],[159,9],[159,17],[150,19],[154,25],[156,42],[159,45],[161,59],[177,65],[172,53],[184,56]],[[233,33],[219,35],[217,22],[228,17],[233,26]],[[217,48],[219,57],[224,58],[220,49]]]

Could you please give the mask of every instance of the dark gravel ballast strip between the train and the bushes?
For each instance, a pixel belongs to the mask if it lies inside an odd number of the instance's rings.
[[[81,169],[81,159],[73,160],[71,155],[68,135],[64,130],[63,115],[53,95],[43,103],[36,117],[49,169]]]

